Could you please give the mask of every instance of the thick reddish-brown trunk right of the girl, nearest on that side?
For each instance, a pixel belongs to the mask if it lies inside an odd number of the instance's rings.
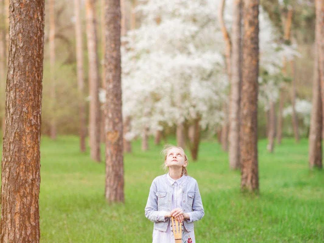
[[[241,120],[241,188],[259,190],[258,175],[258,76],[259,0],[243,0],[243,72]]]

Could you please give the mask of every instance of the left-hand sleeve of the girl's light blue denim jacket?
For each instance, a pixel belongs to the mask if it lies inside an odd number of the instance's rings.
[[[157,187],[153,180],[150,192],[148,194],[147,203],[145,206],[145,217],[152,222],[165,221],[166,211],[157,211],[157,197],[156,197]]]

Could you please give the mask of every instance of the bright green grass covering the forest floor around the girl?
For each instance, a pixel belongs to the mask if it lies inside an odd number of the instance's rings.
[[[170,140],[173,142],[174,140]],[[106,203],[105,163],[79,152],[74,136],[41,138],[41,242],[151,242],[153,223],[144,208],[160,169],[161,146],[142,152],[140,141],[124,157],[125,204]],[[284,139],[273,154],[259,142],[260,195],[240,192],[240,173],[227,153],[203,141],[188,173],[199,185],[205,216],[195,223],[197,243],[323,242],[324,172],[310,171],[307,140]],[[104,146],[102,144],[102,158]]]

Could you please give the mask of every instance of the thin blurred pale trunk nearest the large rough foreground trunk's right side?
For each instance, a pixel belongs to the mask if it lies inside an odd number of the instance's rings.
[[[56,139],[56,85],[55,85],[55,2],[49,1],[50,31],[49,31],[49,49],[50,49],[50,76],[51,76],[51,125],[50,134],[52,139]]]

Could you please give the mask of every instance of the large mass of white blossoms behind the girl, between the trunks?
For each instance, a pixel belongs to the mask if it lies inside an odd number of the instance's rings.
[[[228,78],[212,1],[140,1],[141,27],[122,39],[123,116],[128,139],[201,117],[222,121]]]

